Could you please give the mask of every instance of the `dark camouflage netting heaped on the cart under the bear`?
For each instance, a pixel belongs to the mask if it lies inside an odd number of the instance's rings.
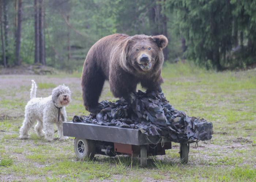
[[[166,137],[177,143],[206,141],[212,138],[212,123],[189,117],[174,109],[162,92],[135,92],[133,104],[123,98],[115,103],[103,100],[97,115],[74,116],[73,122],[139,129],[146,135]]]

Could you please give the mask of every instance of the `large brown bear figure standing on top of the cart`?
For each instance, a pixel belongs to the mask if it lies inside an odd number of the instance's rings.
[[[98,40],[89,50],[83,66],[82,90],[86,110],[97,113],[105,80],[112,94],[129,103],[138,83],[147,91],[161,91],[163,48],[168,40],[163,35],[147,36],[116,33]]]

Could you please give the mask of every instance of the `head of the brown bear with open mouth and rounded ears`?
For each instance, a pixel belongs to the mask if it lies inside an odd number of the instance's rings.
[[[164,35],[132,36],[124,46],[125,65],[140,73],[161,69],[164,60],[163,49],[167,44],[168,39]]]

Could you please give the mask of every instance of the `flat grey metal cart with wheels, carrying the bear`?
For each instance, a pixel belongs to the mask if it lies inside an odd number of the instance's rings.
[[[167,138],[147,136],[140,130],[91,123],[63,122],[63,134],[75,137],[74,149],[79,159],[93,159],[95,154],[140,157],[140,166],[147,166],[147,157],[165,155],[172,149]],[[181,163],[188,162],[189,144],[180,144]]]

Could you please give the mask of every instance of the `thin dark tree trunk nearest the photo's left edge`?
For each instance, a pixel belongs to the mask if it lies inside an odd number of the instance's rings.
[[[3,12],[4,12],[4,42],[5,42],[5,55],[6,55],[6,64],[8,64],[8,0],[3,0]]]

